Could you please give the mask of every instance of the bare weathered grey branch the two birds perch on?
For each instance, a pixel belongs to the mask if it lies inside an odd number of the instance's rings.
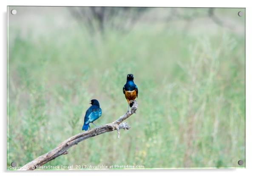
[[[114,130],[117,130],[118,138],[120,136],[119,129],[130,129],[130,126],[128,126],[127,122],[123,122],[125,119],[130,117],[132,114],[136,113],[137,110],[137,102],[134,103],[133,107],[131,108],[131,111],[125,113],[121,117],[119,117],[116,121],[110,123],[110,124],[105,124],[102,126],[99,126],[97,128],[91,129],[86,132],[79,133],[77,135],[74,135],[67,140],[63,141],[60,143],[59,146],[54,148],[53,150],[49,151],[46,154],[43,154],[42,156],[34,159],[31,162],[28,162],[26,165],[24,165],[20,170],[34,170],[39,168],[41,165],[46,164],[47,162],[61,156],[64,154],[68,154],[68,149],[71,148],[72,146],[80,143],[83,140],[86,140],[90,137],[94,137],[97,135],[101,135],[105,132],[111,132]]]

